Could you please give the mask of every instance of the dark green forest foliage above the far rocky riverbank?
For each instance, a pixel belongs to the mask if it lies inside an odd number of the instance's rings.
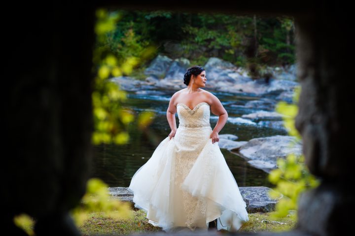
[[[158,54],[172,59],[184,57],[191,65],[203,66],[210,57],[241,67],[295,62],[292,17],[161,10],[116,12],[121,18],[106,45],[120,60],[141,57],[143,49],[152,46],[155,50],[151,58]]]

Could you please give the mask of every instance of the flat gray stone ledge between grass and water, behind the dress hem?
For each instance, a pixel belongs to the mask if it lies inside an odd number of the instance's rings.
[[[119,199],[124,202],[133,202],[133,193],[126,187],[110,187],[108,191],[112,198]],[[279,194],[279,198],[271,199],[269,197],[269,191],[274,191],[268,187],[239,187],[239,191],[242,194],[243,200],[247,203],[247,211],[249,213],[254,212],[270,212],[275,210],[275,204],[284,197],[283,194]]]

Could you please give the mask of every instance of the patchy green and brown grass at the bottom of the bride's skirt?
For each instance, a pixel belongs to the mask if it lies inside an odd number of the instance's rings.
[[[132,210],[133,211],[133,210]],[[148,224],[148,219],[143,210],[133,211],[132,219],[115,220],[107,217],[105,212],[95,212],[90,214],[88,220],[79,228],[84,236],[92,236],[96,234],[134,234],[134,233],[150,233],[162,231],[159,227]],[[268,222],[263,220],[267,220]],[[279,224],[278,221],[285,224]],[[296,222],[289,217],[273,219],[269,213],[250,213],[249,221],[246,222],[239,232],[276,232],[287,231],[294,228]],[[226,233],[223,231],[221,233]]]

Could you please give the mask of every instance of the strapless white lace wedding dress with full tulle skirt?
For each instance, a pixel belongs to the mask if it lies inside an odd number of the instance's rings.
[[[132,177],[135,207],[165,232],[205,231],[214,219],[217,230],[239,230],[249,220],[246,203],[210,138],[210,105],[201,102],[191,110],[178,103],[177,111],[175,136],[166,137]]]

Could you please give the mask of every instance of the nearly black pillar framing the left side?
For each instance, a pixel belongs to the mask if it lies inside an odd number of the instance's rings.
[[[27,213],[42,235],[79,236],[69,210],[86,190],[91,157],[92,3],[18,3],[4,25],[1,188],[8,235],[25,235],[13,217]],[[6,134],[6,133],[5,133]]]

